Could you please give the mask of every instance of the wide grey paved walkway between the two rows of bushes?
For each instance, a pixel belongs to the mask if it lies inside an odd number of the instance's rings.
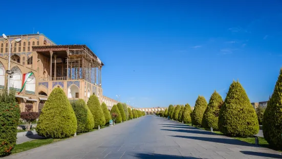
[[[282,158],[280,152],[147,115],[4,158]]]

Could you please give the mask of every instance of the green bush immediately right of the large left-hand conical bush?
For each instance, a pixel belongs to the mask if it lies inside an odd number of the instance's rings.
[[[71,103],[76,120],[77,120],[77,129],[76,132],[88,132],[91,129],[94,128],[94,117],[91,113],[88,106],[85,104],[85,102],[80,99],[76,102]]]

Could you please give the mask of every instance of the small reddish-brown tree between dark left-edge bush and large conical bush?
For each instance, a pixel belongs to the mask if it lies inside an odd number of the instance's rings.
[[[26,111],[20,113],[20,118],[25,122],[26,131],[30,131],[31,123],[39,117],[39,113],[33,112],[32,109],[32,104],[26,104]]]

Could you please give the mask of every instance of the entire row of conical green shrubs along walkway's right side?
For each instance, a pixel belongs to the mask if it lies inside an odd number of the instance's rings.
[[[259,114],[259,118],[257,116]],[[170,117],[172,120],[191,123],[206,129],[220,130],[228,136],[253,136],[259,131],[258,120],[262,121],[263,133],[271,147],[282,149],[282,69],[274,91],[269,98],[267,108],[255,110],[243,86],[237,81],[230,85],[223,101],[221,95],[214,91],[206,102],[204,96],[198,96],[194,109],[189,104],[185,107],[170,105],[157,115]],[[263,117],[263,120],[262,120]]]

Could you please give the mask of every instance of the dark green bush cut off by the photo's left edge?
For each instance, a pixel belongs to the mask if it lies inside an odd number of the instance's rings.
[[[0,157],[9,155],[17,140],[20,109],[15,101],[15,91],[0,90]]]

